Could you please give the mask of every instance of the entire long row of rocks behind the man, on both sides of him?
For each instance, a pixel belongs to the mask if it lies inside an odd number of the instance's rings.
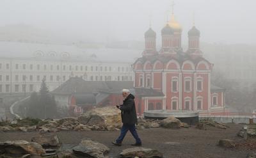
[[[114,107],[100,107],[92,109],[87,113],[75,117],[67,117],[61,119],[39,120],[33,118],[25,118],[18,120],[16,123],[0,122],[0,132],[21,131],[21,132],[58,132],[60,130],[119,130],[122,127],[122,118],[120,110]],[[170,117],[164,120],[144,120],[138,118],[137,129],[148,128],[171,128],[179,129],[180,127],[188,128],[189,125],[180,122],[177,118]],[[216,124],[216,127],[224,127],[224,125]]]

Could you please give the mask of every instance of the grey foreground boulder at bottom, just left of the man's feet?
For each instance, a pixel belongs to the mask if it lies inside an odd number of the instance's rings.
[[[104,158],[109,152],[109,148],[97,141],[92,141],[91,139],[82,139],[81,143],[75,146],[73,149],[75,154],[95,157],[95,158]]]

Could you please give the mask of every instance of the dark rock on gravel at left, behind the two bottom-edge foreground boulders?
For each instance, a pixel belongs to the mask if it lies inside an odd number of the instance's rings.
[[[49,146],[60,146],[60,140],[58,136],[52,135],[52,134],[44,134],[40,135],[38,137],[34,137],[31,139],[32,142],[36,142],[44,147],[49,147]]]

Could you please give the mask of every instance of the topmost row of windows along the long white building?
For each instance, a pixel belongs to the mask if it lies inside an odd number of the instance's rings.
[[[2,63],[0,63],[0,69],[2,68]],[[6,69],[10,69],[10,63],[6,63]],[[47,70],[47,68],[49,68],[51,71],[52,70],[60,70],[61,66],[60,65],[56,65],[56,67],[54,67],[54,65],[26,65],[26,64],[15,64],[15,70],[34,70],[34,68],[36,68],[36,70]],[[76,71],[87,71],[88,67],[87,66],[72,66],[72,65],[63,65],[61,70],[76,70]],[[93,72],[111,72],[112,71],[112,67],[90,67],[90,70]],[[129,67],[118,67],[117,68],[118,72],[131,72],[132,68]]]

